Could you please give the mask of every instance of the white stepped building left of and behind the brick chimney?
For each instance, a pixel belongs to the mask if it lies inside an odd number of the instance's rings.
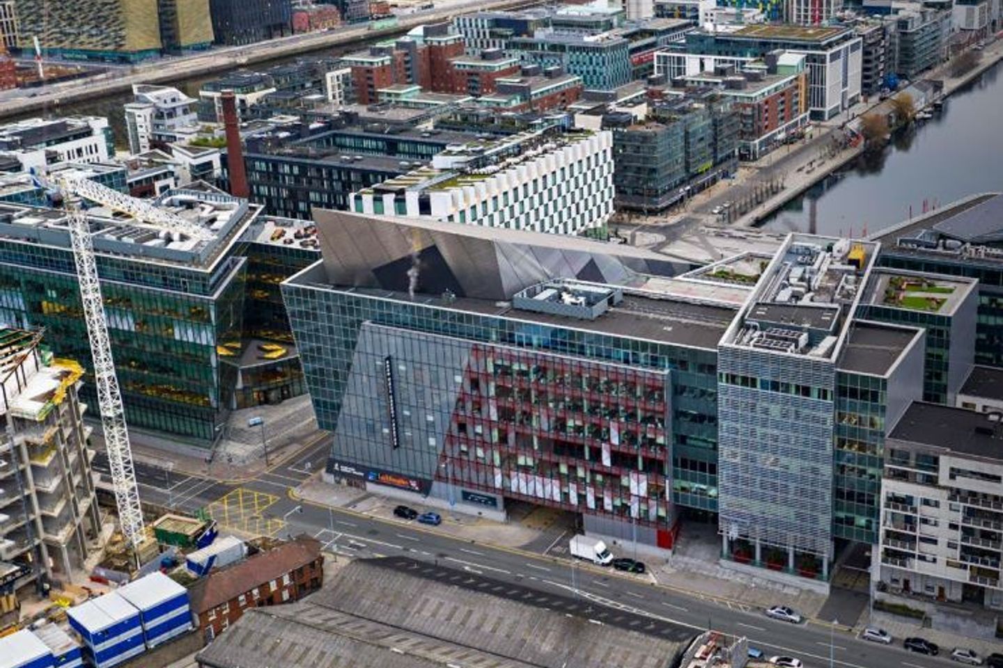
[[[199,125],[197,100],[177,88],[133,84],[132,95],[135,101],[124,106],[130,153],[177,141],[180,130],[191,131]]]

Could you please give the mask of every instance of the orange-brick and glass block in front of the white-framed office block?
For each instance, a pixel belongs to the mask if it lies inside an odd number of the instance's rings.
[[[757,160],[808,124],[807,68],[802,54],[767,53],[737,69],[686,76],[688,87],[710,87],[731,100],[738,116],[738,154]]]

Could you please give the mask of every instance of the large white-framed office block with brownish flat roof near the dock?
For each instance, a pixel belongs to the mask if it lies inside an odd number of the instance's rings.
[[[676,76],[684,62],[685,74],[706,69],[687,55],[762,58],[782,49],[805,56],[807,101],[813,119],[825,120],[849,109],[861,97],[862,39],[848,27],[805,28],[795,25],[751,25],[729,32],[697,30],[686,35],[683,50],[656,55],[655,73]],[[659,61],[665,63],[659,65]],[[696,68],[697,71],[693,71]]]

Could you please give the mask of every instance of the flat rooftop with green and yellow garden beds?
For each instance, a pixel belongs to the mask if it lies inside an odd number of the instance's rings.
[[[876,269],[864,302],[889,308],[953,315],[976,282],[938,274]]]

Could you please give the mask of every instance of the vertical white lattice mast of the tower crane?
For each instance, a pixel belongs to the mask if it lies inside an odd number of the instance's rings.
[[[143,539],[142,508],[139,505],[139,490],[135,484],[135,470],[132,467],[132,450],[125,427],[125,411],[118,389],[118,377],[111,358],[111,344],[108,340],[108,322],[104,315],[104,300],[101,298],[101,284],[94,261],[94,243],[90,236],[87,213],[80,208],[80,200],[67,192],[69,236],[73,247],[73,262],[76,264],[77,280],[80,284],[80,300],[83,302],[83,316],[87,323],[87,338],[90,340],[90,357],[94,366],[94,385],[97,388],[97,404],[101,414],[101,428],[104,431],[104,447],[111,470],[111,485],[115,492],[118,522],[125,541],[136,547]]]

